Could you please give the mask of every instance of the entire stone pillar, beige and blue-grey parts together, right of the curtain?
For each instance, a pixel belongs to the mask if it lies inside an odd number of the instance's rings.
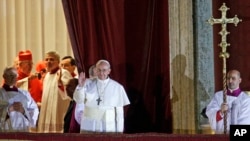
[[[214,89],[211,10],[211,1],[169,0],[174,133],[198,133],[207,122],[200,112]]]

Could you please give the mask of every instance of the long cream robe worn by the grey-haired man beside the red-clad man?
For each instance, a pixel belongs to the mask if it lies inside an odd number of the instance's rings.
[[[58,81],[60,78],[64,90],[59,88]],[[63,132],[64,116],[70,103],[70,98],[68,97],[65,88],[70,79],[72,79],[72,76],[65,69],[59,69],[53,74],[46,74],[43,80],[43,95],[38,121],[38,132]]]

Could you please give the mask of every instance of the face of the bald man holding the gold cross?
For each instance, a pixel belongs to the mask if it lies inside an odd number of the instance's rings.
[[[236,71],[229,72],[227,74],[227,86],[229,89],[234,90],[239,87],[241,78]]]

